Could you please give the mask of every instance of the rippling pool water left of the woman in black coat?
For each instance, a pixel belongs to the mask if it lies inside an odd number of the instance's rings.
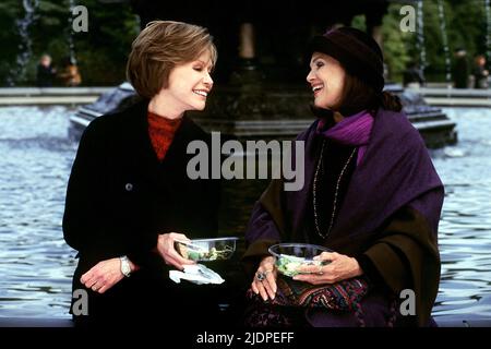
[[[60,230],[74,155],[67,112],[0,109],[1,316],[67,316],[74,268]]]

